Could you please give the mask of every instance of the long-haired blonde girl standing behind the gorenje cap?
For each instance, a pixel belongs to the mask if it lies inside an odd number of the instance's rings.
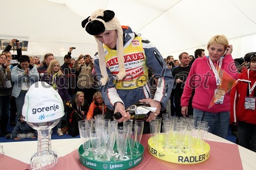
[[[63,103],[69,102],[71,100],[68,93],[68,83],[66,76],[63,75],[60,70],[59,62],[57,60],[52,60],[47,68],[47,72],[41,77],[41,81],[50,84],[56,91],[58,91]],[[62,136],[61,131],[61,121],[57,124],[57,134]]]

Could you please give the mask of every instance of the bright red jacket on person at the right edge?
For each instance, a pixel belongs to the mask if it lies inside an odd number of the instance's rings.
[[[256,71],[249,71],[250,87],[256,81]],[[244,108],[245,97],[249,96],[247,69],[239,74],[238,84],[231,89],[230,92],[230,123],[236,123],[237,120],[249,124],[256,125],[256,110],[248,110]],[[256,90],[253,89],[251,96],[256,97]]]

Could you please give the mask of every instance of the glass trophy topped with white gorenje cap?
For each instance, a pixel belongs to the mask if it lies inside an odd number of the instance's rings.
[[[52,151],[51,130],[64,115],[62,99],[56,90],[46,82],[36,82],[26,93],[22,110],[24,120],[37,130],[37,152],[31,156],[32,169],[47,169],[58,161]]]

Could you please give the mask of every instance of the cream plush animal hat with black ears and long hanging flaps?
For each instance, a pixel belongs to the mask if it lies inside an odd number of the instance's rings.
[[[82,21],[82,28],[95,37],[98,44],[99,67],[102,74],[100,84],[105,85],[108,82],[108,72],[106,72],[106,61],[103,43],[96,35],[104,31],[117,30],[117,59],[119,63],[119,73],[116,75],[116,80],[122,80],[125,76],[125,68],[123,62],[123,31],[119,20],[115,17],[115,13],[111,10],[98,9],[91,16]]]

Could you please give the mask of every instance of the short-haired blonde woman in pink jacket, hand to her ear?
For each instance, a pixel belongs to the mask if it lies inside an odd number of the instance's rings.
[[[181,111],[186,116],[188,101],[195,88],[192,106],[196,122],[207,122],[210,133],[226,138],[230,118],[228,85],[238,77],[231,56],[232,45],[224,35],[216,35],[209,40],[207,50],[209,56],[196,59],[191,66],[181,97]]]

